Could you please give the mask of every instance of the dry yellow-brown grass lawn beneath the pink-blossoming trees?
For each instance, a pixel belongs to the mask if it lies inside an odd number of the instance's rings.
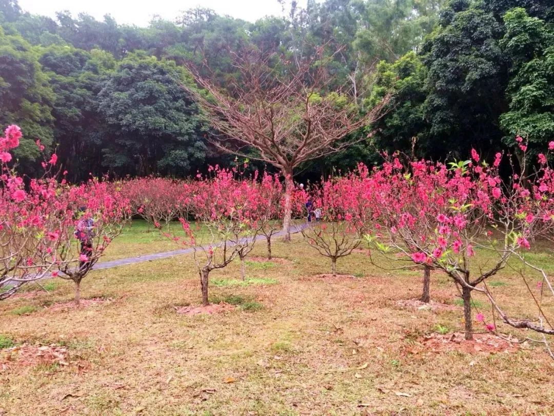
[[[175,248],[139,223],[106,255]],[[238,261],[211,274],[212,300],[235,305],[220,314],[175,312],[201,299],[188,255],[91,272],[82,296],[98,302],[79,310],[57,307],[73,293],[61,280],[3,301],[0,414],[552,413],[554,362],[541,347],[427,343],[462,327],[446,277],[432,274],[432,298],[444,307],[411,308],[403,301],[419,296],[418,270],[383,271],[360,251],[338,261],[356,277],[316,278],[330,264],[301,236],[275,242],[271,262],[261,261],[264,250],[261,242],[251,253],[244,283]],[[552,267],[551,254],[539,256]],[[524,310],[517,270],[493,281],[510,311]]]

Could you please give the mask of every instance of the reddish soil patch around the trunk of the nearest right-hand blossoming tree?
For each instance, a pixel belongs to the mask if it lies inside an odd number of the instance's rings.
[[[506,341],[490,333],[474,334],[471,341],[466,341],[464,334],[460,332],[447,335],[432,333],[420,339],[420,343],[424,349],[439,354],[449,351],[464,352],[466,354],[510,353],[519,349],[519,344]],[[421,347],[418,348],[418,345],[416,345],[406,348],[405,351],[417,353],[421,352]]]

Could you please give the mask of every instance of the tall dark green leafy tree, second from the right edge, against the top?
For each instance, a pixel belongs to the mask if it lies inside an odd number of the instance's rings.
[[[480,0],[450,0],[441,11],[440,27],[424,45],[431,156],[499,146],[505,59],[499,46],[501,24],[485,6]]]

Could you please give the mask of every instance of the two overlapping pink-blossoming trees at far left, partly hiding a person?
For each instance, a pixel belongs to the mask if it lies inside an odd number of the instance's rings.
[[[12,150],[22,132],[10,125],[0,138],[0,299],[25,283],[59,276],[80,283],[119,234],[129,217],[129,202],[107,182],[91,179],[70,186],[51,174],[57,155],[42,166],[45,174],[30,179],[17,174]],[[37,141],[39,151],[44,146]]]

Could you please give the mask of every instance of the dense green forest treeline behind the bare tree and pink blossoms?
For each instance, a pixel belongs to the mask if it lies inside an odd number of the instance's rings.
[[[238,77],[229,50],[274,50],[295,62],[327,44],[336,83],[366,107],[394,96],[371,138],[304,167],[372,163],[376,149],[435,159],[530,148],[554,138],[552,0],[327,0],[286,18],[249,23],[193,9],[146,28],[57,13],[55,20],[0,0],[0,124],[19,124],[20,169],[32,173],[34,141],[57,148],[73,181],[89,174],[188,176],[234,158],[209,144],[213,132],[183,89],[184,64]],[[362,132],[360,134],[367,134]]]

